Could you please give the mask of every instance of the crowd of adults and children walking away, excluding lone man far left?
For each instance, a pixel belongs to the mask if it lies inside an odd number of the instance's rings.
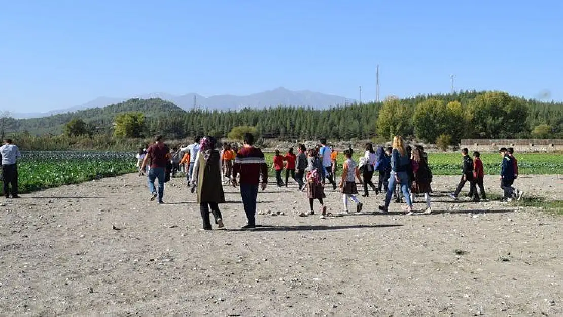
[[[203,220],[203,229],[211,229],[209,211],[215,218],[218,227],[224,226],[218,204],[225,202],[223,184],[230,182],[233,186],[240,187],[240,193],[247,216],[246,229],[256,227],[256,199],[258,189],[265,190],[268,184],[268,168],[262,151],[254,147],[254,137],[251,134],[244,136],[243,147],[236,151],[230,145],[224,145],[222,150],[217,149],[217,141],[213,137],[196,138],[194,143],[180,147],[178,150],[185,153],[180,160],[186,164],[186,178],[188,184],[192,185],[192,192],[197,192],[197,202]],[[145,171],[146,164],[150,161],[148,172],[149,189],[151,200],[158,198],[162,203],[164,182],[166,177],[166,164],[172,159],[175,151],[169,151],[162,137],[155,139],[155,144],[149,146],[140,171]],[[468,149],[462,149],[462,178],[452,198],[458,199],[463,186],[469,182],[470,197],[473,202],[486,199],[483,185],[484,169],[480,160],[479,152],[473,153],[473,159],[468,155]],[[504,192],[504,200],[520,199],[522,191],[512,187],[513,181],[518,175],[516,158],[513,157],[513,149],[502,148],[503,163],[501,171],[501,187]],[[272,169],[276,175],[276,185],[287,186],[291,176],[298,184],[298,191],[306,191],[309,199],[309,211],[306,215],[315,215],[315,201],[320,203],[319,214],[321,218],[327,216],[328,207],[325,204],[325,182],[328,180],[333,189],[339,188],[342,194],[343,212],[349,211],[350,200],[355,203],[355,211],[363,210],[363,203],[356,195],[359,194],[356,180],[363,185],[363,197],[369,197],[370,189],[378,195],[385,192],[385,203],[379,206],[379,212],[387,213],[392,200],[405,202],[403,215],[414,215],[415,213],[432,213],[432,171],[428,164],[428,155],[422,146],[414,148],[407,146],[402,137],[396,136],[392,145],[388,147],[378,146],[374,149],[373,144],[365,145],[364,155],[356,162],[352,157],[354,150],[343,151],[345,162],[342,164],[342,178],[336,181],[338,152],[327,145],[326,140],[321,139],[316,148],[307,149],[304,144],[299,144],[297,154],[290,148],[287,154],[282,155],[279,150],[275,151]],[[282,172],[285,169],[285,180]],[[378,184],[374,184],[372,178],[375,172],[379,172]],[[161,181],[161,176],[162,180]],[[155,179],[158,178],[158,190],[155,187]],[[477,190],[479,186],[479,191]],[[423,195],[426,207],[421,211],[413,208],[417,195]]]

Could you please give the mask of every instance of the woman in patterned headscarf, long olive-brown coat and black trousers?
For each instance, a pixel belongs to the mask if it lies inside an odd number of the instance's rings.
[[[197,185],[199,209],[202,213],[203,230],[211,230],[209,208],[219,228],[223,227],[223,220],[218,204],[225,202],[225,193],[221,182],[222,166],[221,154],[215,149],[216,141],[213,137],[200,140],[200,149],[195,157],[192,174],[194,184]]]

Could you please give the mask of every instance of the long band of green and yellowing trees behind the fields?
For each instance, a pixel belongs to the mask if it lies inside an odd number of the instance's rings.
[[[132,99],[85,111],[16,121],[19,131],[30,123],[36,130],[43,126],[53,128],[58,123],[59,133],[68,135],[148,137],[160,133],[169,140],[195,135],[226,137],[240,126],[254,127],[266,139],[282,140],[388,140],[396,134],[428,142],[439,137],[449,138],[450,142],[466,138],[563,138],[563,103],[526,100],[496,91],[388,97],[383,102],[325,110],[276,106],[184,111],[160,99]]]

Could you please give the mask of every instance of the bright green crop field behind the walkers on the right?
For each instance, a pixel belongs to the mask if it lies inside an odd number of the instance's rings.
[[[266,160],[270,169],[273,157],[273,153],[266,153]],[[359,154],[354,155],[356,163],[359,158]],[[461,174],[461,158],[459,153],[428,153],[428,163],[434,175]],[[517,154],[516,159],[518,160],[520,175],[563,174],[563,155],[561,154],[522,153]],[[498,175],[501,171],[502,161],[499,154],[481,154],[481,160],[486,175]],[[339,166],[342,166],[344,162],[344,155],[342,153],[338,154],[338,162]]]

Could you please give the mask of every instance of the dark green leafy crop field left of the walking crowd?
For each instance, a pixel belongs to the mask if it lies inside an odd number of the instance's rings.
[[[137,170],[135,153],[130,152],[29,151],[21,155],[20,193]]]

